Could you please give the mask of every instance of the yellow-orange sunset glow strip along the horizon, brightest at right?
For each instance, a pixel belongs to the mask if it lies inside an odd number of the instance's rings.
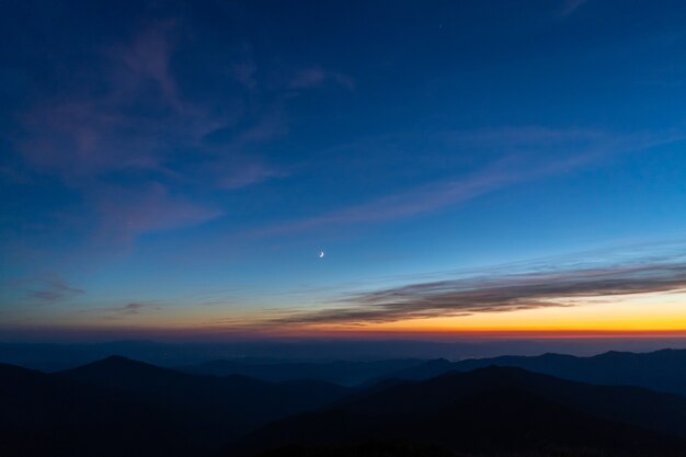
[[[562,300],[561,300],[562,301]],[[516,311],[475,312],[460,317],[403,319],[362,323],[283,323],[250,310],[230,313],[191,312],[188,307],[138,313],[135,319],[103,323],[83,316],[36,321],[33,329],[59,331],[117,331],[168,335],[231,335],[275,338],[682,338],[686,336],[686,292],[611,297],[586,297],[571,306],[540,307]],[[270,316],[266,316],[268,318]],[[275,324],[276,322],[276,324]]]

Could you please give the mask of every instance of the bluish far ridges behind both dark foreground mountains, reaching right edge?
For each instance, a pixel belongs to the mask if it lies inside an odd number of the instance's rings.
[[[243,375],[265,380],[319,379],[342,385],[373,385],[380,379],[428,379],[441,374],[475,368],[513,366],[564,379],[605,386],[640,386],[686,395],[686,350],[651,353],[607,352],[591,357],[544,354],[450,362],[395,359],[378,362],[260,363],[213,361],[180,368],[204,375]]]

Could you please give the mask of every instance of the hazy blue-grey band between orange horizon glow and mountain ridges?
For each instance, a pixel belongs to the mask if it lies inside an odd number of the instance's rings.
[[[0,342],[0,363],[58,372],[102,359],[112,354],[164,367],[201,365],[207,361],[239,364],[369,362],[385,359],[481,358],[502,354],[544,353],[590,355],[622,347],[648,352],[686,347],[682,339],[562,339],[492,341],[418,340],[245,340],[227,342],[111,341],[102,343]]]

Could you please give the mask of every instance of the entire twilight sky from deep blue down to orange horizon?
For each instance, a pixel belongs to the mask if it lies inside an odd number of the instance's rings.
[[[686,335],[684,2],[2,9],[0,339]]]

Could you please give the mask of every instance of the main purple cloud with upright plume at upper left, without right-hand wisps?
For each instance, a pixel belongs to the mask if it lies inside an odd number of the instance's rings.
[[[172,22],[155,23],[96,54],[88,70],[102,75],[104,89],[72,90],[24,113],[19,148],[27,162],[78,187],[104,173],[159,169],[163,138],[187,139],[211,124],[178,94],[169,68],[173,30]]]

